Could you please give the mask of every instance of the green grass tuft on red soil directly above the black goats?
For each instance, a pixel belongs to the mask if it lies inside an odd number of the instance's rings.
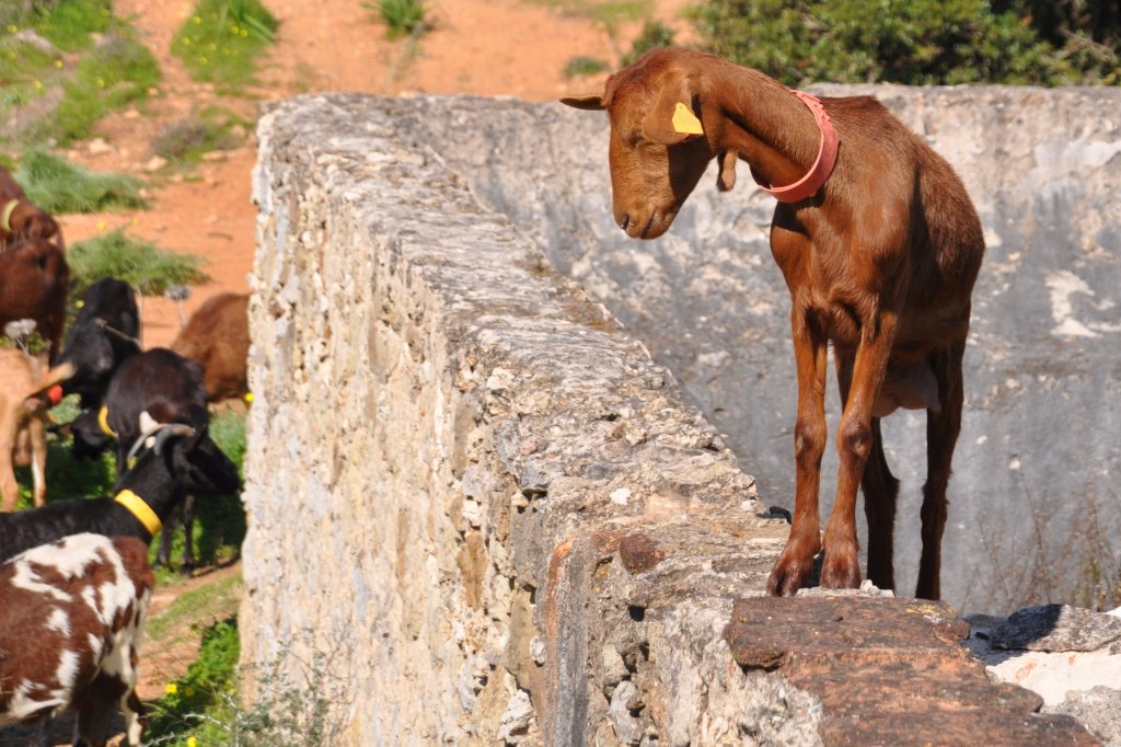
[[[75,297],[105,277],[120,278],[145,295],[210,279],[201,269],[205,261],[201,257],[160,249],[151,241],[127,236],[123,229],[72,245],[66,259],[71,278],[80,288],[72,290]]]

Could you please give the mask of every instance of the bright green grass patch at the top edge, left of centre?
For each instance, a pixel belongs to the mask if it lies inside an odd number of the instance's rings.
[[[259,0],[200,0],[175,35],[172,52],[196,81],[250,85],[277,26]]]

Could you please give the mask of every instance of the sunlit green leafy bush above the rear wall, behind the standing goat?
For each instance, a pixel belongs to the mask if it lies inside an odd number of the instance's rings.
[[[788,85],[1081,79],[1023,17],[989,0],[707,0],[694,22],[710,52]]]

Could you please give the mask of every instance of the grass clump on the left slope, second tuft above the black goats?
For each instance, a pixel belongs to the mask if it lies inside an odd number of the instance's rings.
[[[100,213],[148,206],[139,179],[91,172],[43,150],[24,156],[15,177],[28,199],[48,213]]]

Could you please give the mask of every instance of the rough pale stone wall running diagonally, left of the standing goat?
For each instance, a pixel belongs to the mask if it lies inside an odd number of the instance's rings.
[[[734,734],[786,525],[713,427],[383,102],[259,136],[247,660],[318,662],[348,744],[638,744],[658,667],[674,744]]]

